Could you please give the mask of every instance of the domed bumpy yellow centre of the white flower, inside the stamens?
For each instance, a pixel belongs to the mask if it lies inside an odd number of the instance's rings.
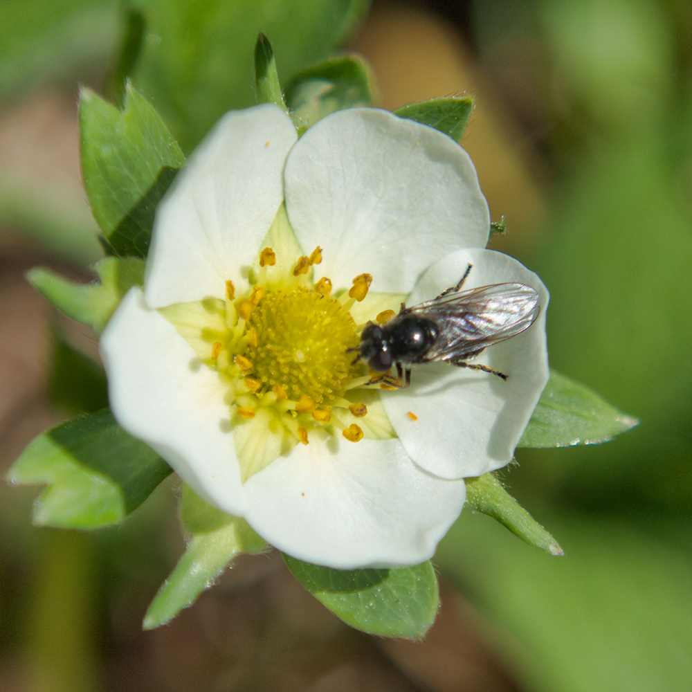
[[[253,374],[268,390],[279,385],[289,399],[334,403],[356,374],[348,352],[358,346],[356,323],[327,295],[304,286],[266,293],[248,329],[257,334],[243,354],[253,363]]]

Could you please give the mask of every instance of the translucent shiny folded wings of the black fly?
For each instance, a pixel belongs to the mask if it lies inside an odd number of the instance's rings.
[[[438,295],[407,311],[439,327],[424,362],[463,361],[530,327],[538,317],[538,293],[525,284],[493,284]]]

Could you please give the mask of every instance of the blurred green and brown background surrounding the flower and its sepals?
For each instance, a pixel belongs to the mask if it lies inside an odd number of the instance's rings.
[[[424,644],[348,630],[271,558],[242,561],[144,634],[147,603],[182,549],[170,483],[97,534],[31,527],[35,489],[2,486],[1,691],[690,689],[692,7],[376,0],[364,10],[3,0],[1,468],[61,418],[45,394],[50,312],[22,274],[49,264],[86,277],[98,257],[76,84],[109,93],[129,70],[116,60],[128,16],[130,33],[145,21],[135,84],[187,151],[226,109],[253,102],[258,30],[284,79],[347,46],[370,60],[385,108],[475,95],[464,146],[491,215],[507,217],[493,247],[551,291],[552,366],[641,426],[603,446],[520,450],[504,481],[567,556],[463,513],[435,558],[444,603]],[[94,352],[88,334],[64,329]]]

